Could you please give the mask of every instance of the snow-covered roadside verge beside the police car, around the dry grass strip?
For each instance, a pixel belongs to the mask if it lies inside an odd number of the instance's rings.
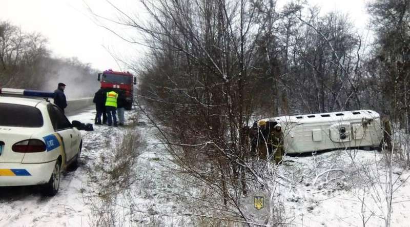
[[[95,111],[90,107],[68,118],[70,121],[93,123],[94,116]],[[127,122],[132,121],[131,118],[133,118],[132,111],[127,111]],[[114,224],[133,225],[133,223],[148,222],[152,216],[151,213],[155,214],[155,209],[149,209],[152,205],[160,206],[162,210],[172,209],[174,204],[167,204],[169,196],[163,195],[172,191],[172,184],[167,184],[166,180],[158,180],[161,177],[168,178],[168,173],[164,170],[167,157],[164,149],[157,144],[155,130],[145,126],[144,122],[137,123],[133,128],[94,126],[92,132],[81,131],[83,151],[80,166],[77,170],[64,174],[60,182],[60,189],[54,197],[43,196],[37,187],[0,188],[0,226],[98,225],[101,212],[96,209],[102,209],[99,205],[103,204],[101,201],[104,201],[106,196],[102,195],[107,192],[109,174],[105,171],[109,171],[108,169],[113,166],[114,163],[110,161],[113,160],[114,149],[121,142],[123,135],[130,130],[144,133],[142,137],[144,137],[145,144],[138,148],[140,155],[135,168],[132,169],[135,172],[128,175],[131,186],[127,189],[127,193],[132,192],[134,208],[140,209],[142,213],[131,215],[136,212],[130,212],[129,209],[124,208],[124,213],[127,214],[126,219],[119,220],[119,217],[122,217],[119,214],[113,216],[112,219],[116,221]],[[156,201],[155,198],[161,201]],[[126,202],[129,201],[122,201],[124,204]],[[118,207],[115,209],[118,210]],[[136,217],[138,219],[135,219]],[[131,220],[132,218],[135,220]]]

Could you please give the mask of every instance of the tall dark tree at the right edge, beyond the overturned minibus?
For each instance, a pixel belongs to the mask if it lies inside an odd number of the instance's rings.
[[[376,30],[370,72],[379,81],[380,90],[389,105],[383,112],[400,122],[400,128],[409,132],[410,107],[410,1],[373,1],[367,6]]]

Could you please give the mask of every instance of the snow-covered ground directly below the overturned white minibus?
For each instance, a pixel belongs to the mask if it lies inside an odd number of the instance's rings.
[[[297,226],[363,226],[363,221],[367,226],[384,226],[388,172],[382,158],[378,151],[364,150],[286,156],[278,169],[283,177],[279,201]],[[392,226],[410,223],[409,176],[408,170],[393,170],[397,191],[392,199]]]

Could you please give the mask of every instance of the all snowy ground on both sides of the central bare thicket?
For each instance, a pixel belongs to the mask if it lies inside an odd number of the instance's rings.
[[[94,114],[89,108],[69,119],[93,123]],[[56,196],[42,196],[36,187],[0,188],[0,226],[198,225],[184,215],[196,212],[189,199],[195,189],[173,171],[156,129],[143,115],[129,111],[126,118],[125,128],[81,131],[80,166],[64,173]],[[271,202],[290,226],[384,226],[388,177],[382,158],[361,150],[286,156]],[[392,226],[410,223],[409,176],[394,169]],[[254,214],[261,223],[264,218]]]

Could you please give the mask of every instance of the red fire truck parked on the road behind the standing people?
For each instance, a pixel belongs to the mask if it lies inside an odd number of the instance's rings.
[[[102,89],[124,92],[127,101],[125,109],[131,110],[136,77],[130,72],[116,72],[109,69],[98,73],[98,81],[101,81]]]

